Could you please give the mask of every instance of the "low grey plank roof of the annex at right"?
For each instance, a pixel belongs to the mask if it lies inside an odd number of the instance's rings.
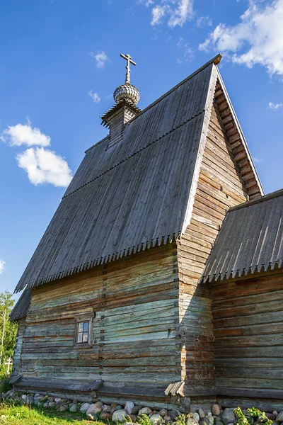
[[[283,189],[231,208],[202,280],[247,276],[283,263]]]

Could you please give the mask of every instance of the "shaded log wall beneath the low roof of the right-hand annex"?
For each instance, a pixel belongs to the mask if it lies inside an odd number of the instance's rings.
[[[216,392],[223,406],[255,405],[279,412],[283,273],[265,275],[212,283]]]

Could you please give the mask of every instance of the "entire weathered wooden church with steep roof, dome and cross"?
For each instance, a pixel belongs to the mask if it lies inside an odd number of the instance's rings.
[[[103,402],[283,409],[283,191],[263,196],[217,55],[102,116],[16,292],[13,383]]]

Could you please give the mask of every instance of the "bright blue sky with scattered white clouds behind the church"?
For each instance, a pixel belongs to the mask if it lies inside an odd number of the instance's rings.
[[[0,290],[13,292],[125,79],[144,108],[220,71],[265,192],[283,187],[283,0],[10,0],[0,5]]]

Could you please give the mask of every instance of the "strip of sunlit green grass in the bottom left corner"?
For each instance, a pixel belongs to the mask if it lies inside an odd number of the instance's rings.
[[[105,425],[87,421],[81,413],[55,412],[24,404],[0,403],[1,425]]]

